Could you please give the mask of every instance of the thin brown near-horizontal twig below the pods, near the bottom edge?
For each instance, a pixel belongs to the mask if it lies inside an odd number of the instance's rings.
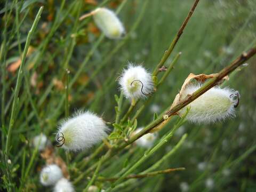
[[[153,171],[145,174],[131,174],[125,177],[124,179],[135,179],[135,178],[145,178],[145,177],[154,177],[159,174],[165,174],[165,173],[171,173],[173,171],[184,171],[185,167],[178,167],[178,168],[173,168],[173,169],[166,169],[166,170],[161,170],[161,171]],[[98,181],[115,181],[119,179],[118,177],[114,178],[98,178]]]

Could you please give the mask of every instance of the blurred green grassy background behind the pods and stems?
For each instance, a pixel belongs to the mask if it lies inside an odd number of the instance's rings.
[[[108,1],[105,6],[115,10],[122,2]],[[133,30],[145,2],[146,11]],[[114,41],[100,36],[100,31],[90,18],[77,20],[101,1],[41,0],[0,3],[2,148],[5,145],[3,132],[10,121],[10,106],[19,66],[17,62],[39,6],[44,6],[25,65],[28,69],[25,73],[29,76],[29,93],[36,103],[38,115],[31,108],[24,80],[19,94],[18,112],[15,114],[10,159],[12,169],[17,167],[13,174],[18,186],[22,156],[25,154],[27,163],[33,153],[30,141],[40,132],[54,141],[53,133],[65,115],[65,69],[69,68],[70,82],[74,83],[69,93],[70,114],[77,109],[89,109],[102,115],[105,121],[113,122],[116,106],[114,94],[119,94],[116,80],[122,69],[130,61],[142,63],[153,71],[193,2],[128,0],[122,4],[124,6],[119,13],[128,35]],[[171,105],[189,73],[218,73],[239,54],[254,46],[255,9],[256,2],[253,0],[201,0],[166,65],[170,64],[178,52],[182,52],[181,57],[163,86],[153,95],[150,105],[138,118],[138,126],[147,125],[153,120],[154,113],[160,114]],[[93,52],[91,49],[94,49]],[[157,151],[137,170],[141,172],[150,167],[170,151],[184,133],[188,133],[182,147],[161,166],[162,169],[181,166],[186,167],[186,171],[134,180],[116,190],[255,191],[255,62],[254,57],[249,61],[249,66],[235,71],[225,83],[225,86],[238,90],[241,94],[236,118],[210,125],[182,125],[166,147]],[[79,75],[73,82],[77,71]],[[125,101],[124,109],[128,107],[129,101]],[[161,137],[170,130],[173,123],[171,121],[164,127],[158,136]],[[86,151],[84,155],[93,150],[94,148]],[[144,151],[136,148],[130,154],[129,161],[136,161]],[[65,157],[63,151],[60,150],[59,153]],[[3,156],[3,150],[1,154]],[[76,154],[71,156],[75,157]],[[103,173],[114,174],[122,169],[123,156],[125,154],[119,154],[119,158],[115,158],[113,165],[106,167]],[[37,171],[43,165],[38,154],[28,179],[28,190],[44,189],[38,182]],[[77,190],[82,189],[83,185],[76,186]]]

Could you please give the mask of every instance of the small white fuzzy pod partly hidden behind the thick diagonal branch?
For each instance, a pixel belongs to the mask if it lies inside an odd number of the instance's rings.
[[[138,128],[135,133],[139,133],[143,128]],[[147,133],[145,135],[143,135],[141,138],[139,138],[138,140],[135,141],[135,143],[142,147],[142,148],[150,148],[153,146],[155,140],[157,138],[157,134],[156,133]]]

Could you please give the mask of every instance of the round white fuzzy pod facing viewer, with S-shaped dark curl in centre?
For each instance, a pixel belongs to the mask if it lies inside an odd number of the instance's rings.
[[[124,69],[119,84],[129,99],[145,98],[154,89],[151,74],[142,66],[134,66],[132,63]]]

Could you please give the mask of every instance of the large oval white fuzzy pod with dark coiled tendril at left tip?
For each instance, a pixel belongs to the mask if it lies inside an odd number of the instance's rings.
[[[59,146],[68,150],[82,150],[92,147],[107,136],[104,121],[90,111],[78,112],[59,127],[56,139]]]

